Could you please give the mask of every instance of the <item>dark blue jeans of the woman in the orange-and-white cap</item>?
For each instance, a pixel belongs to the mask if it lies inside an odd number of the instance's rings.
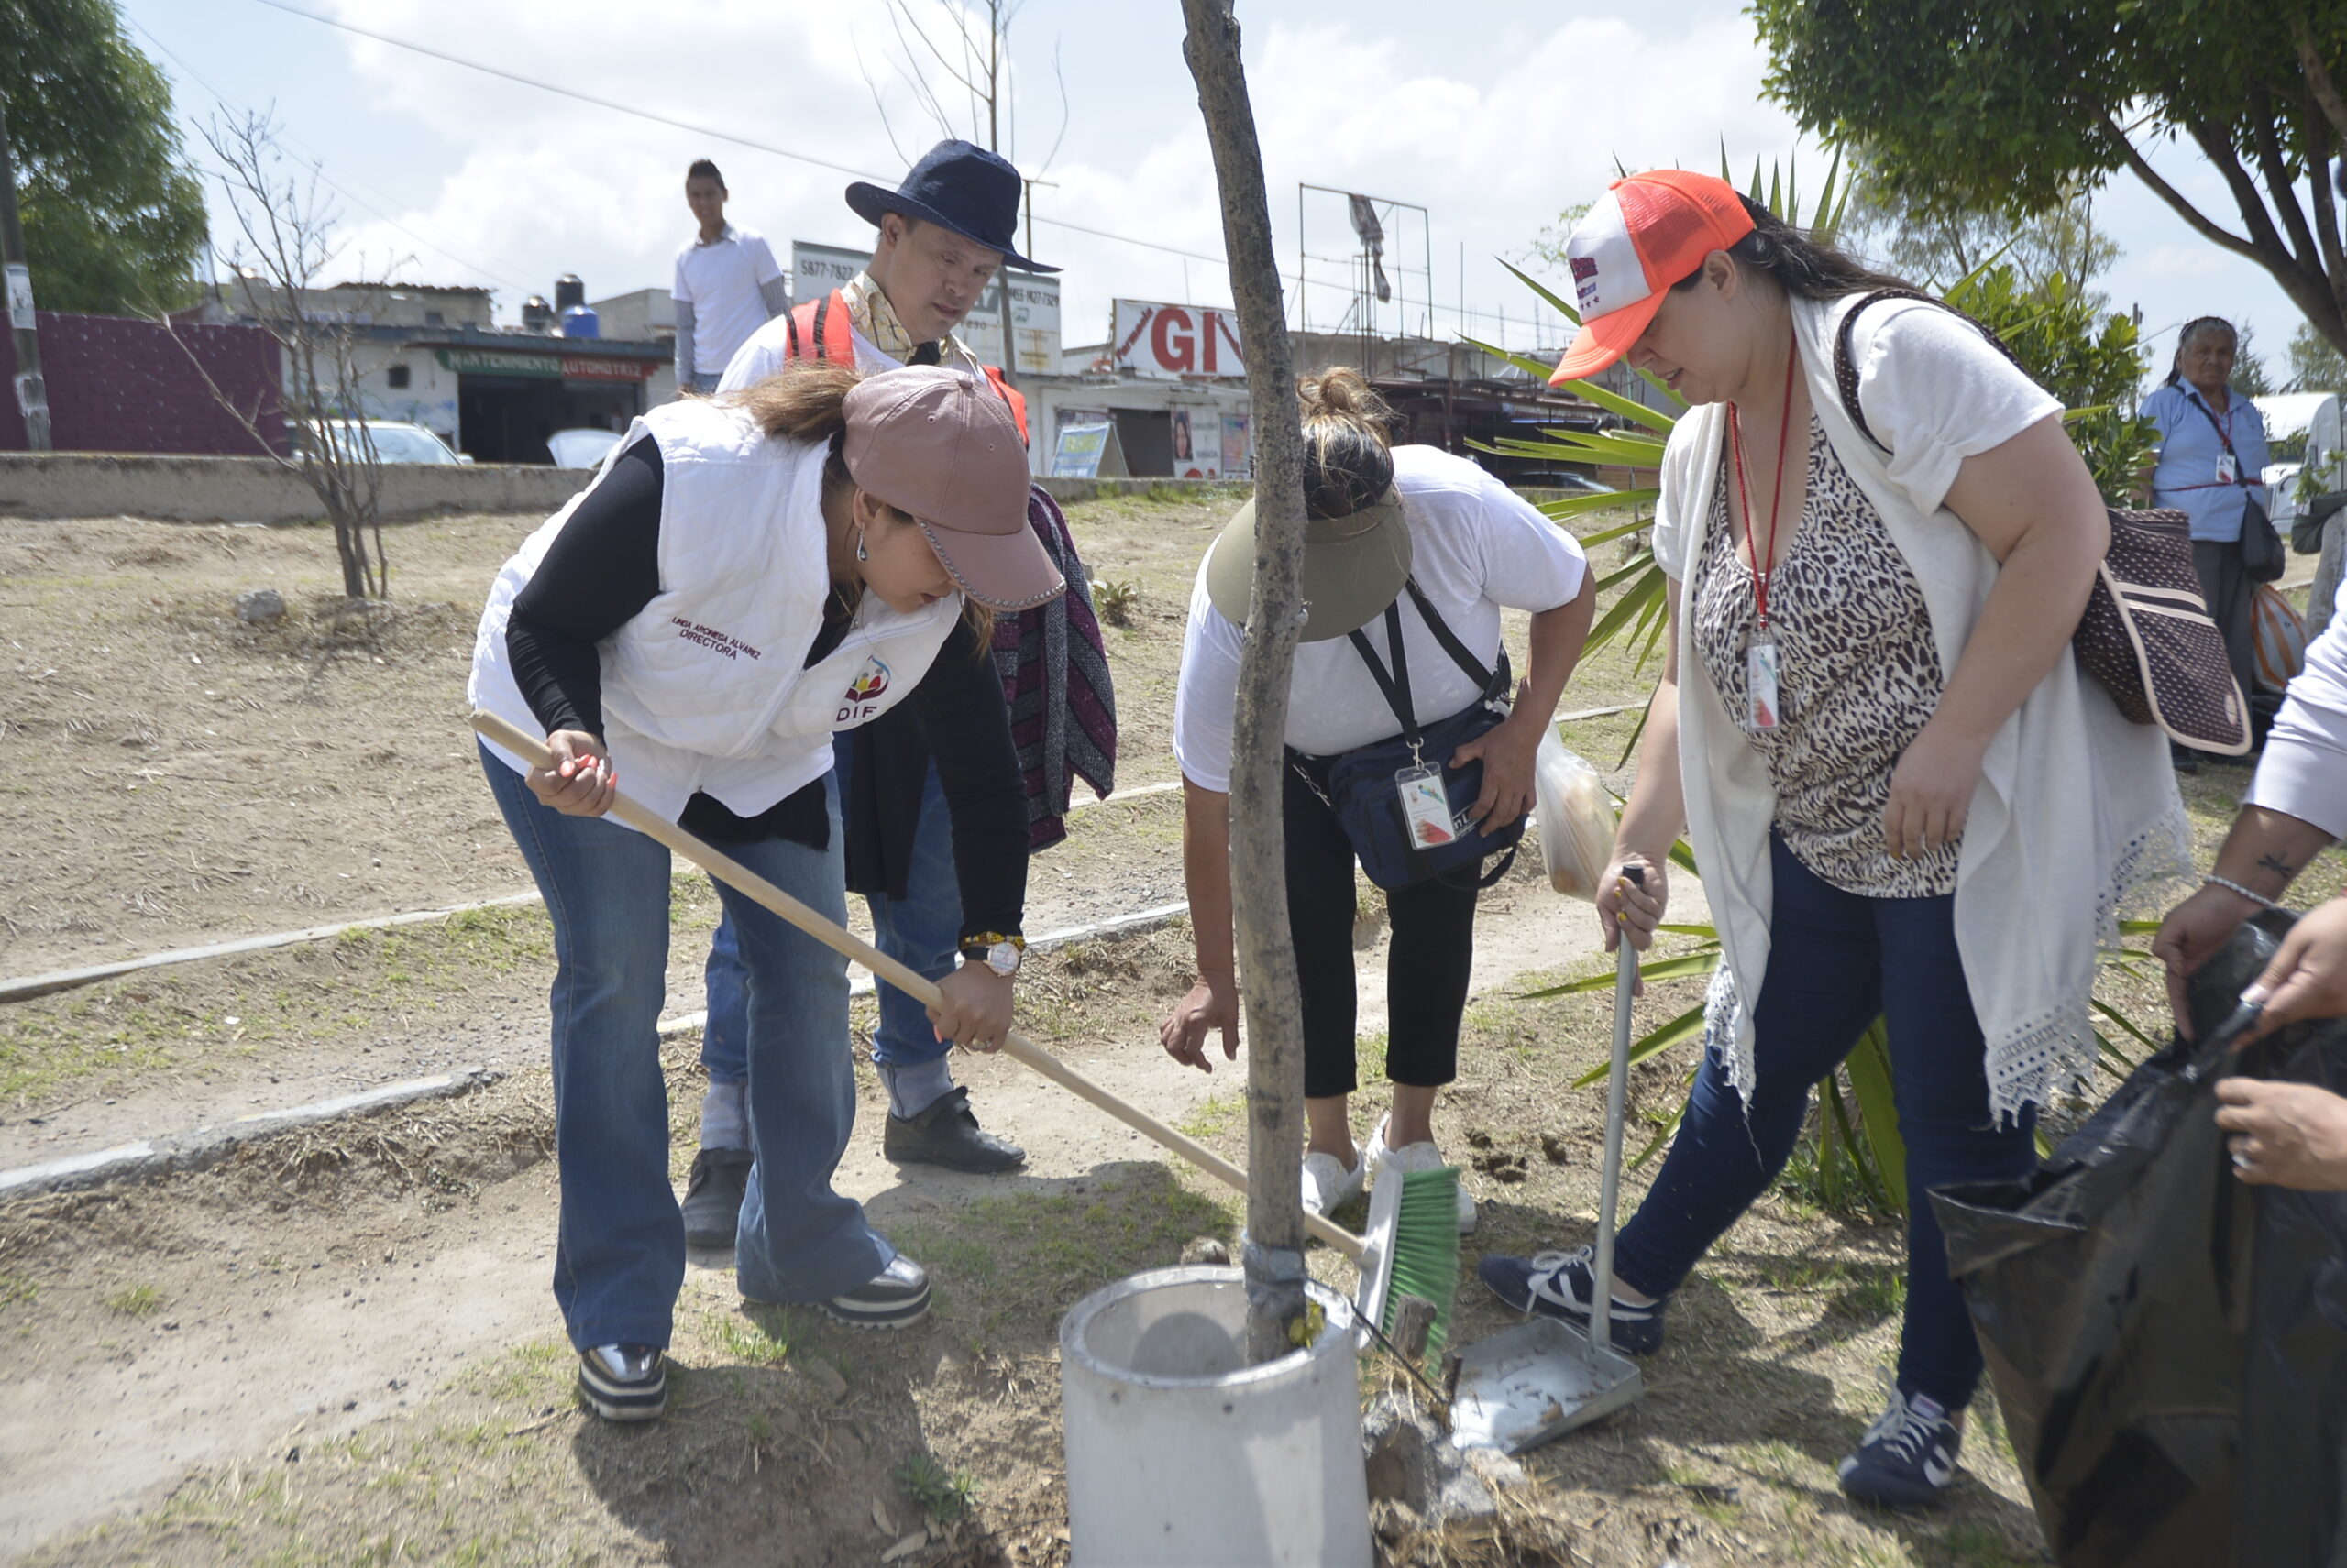
[[[1687,1120],[1662,1174],[1622,1228],[1615,1270],[1648,1296],[1678,1289],[1695,1261],[1784,1169],[1810,1087],[1831,1073],[1875,1016],[1889,1016],[1892,1087],[1908,1164],[1908,1298],[1899,1387],[1950,1411],[1971,1401],[1981,1343],[1948,1277],[1948,1246],[1925,1192],[1960,1181],[2009,1181],[2037,1169],[2035,1115],[1997,1127],[1988,1113],[1981,1023],[1955,951],[1955,894],[1868,899],[1842,892],[1770,845],[1777,906],[1770,960],[1753,1005],[1753,1087],[1746,1108],[1716,1054],[1687,1096]]]

